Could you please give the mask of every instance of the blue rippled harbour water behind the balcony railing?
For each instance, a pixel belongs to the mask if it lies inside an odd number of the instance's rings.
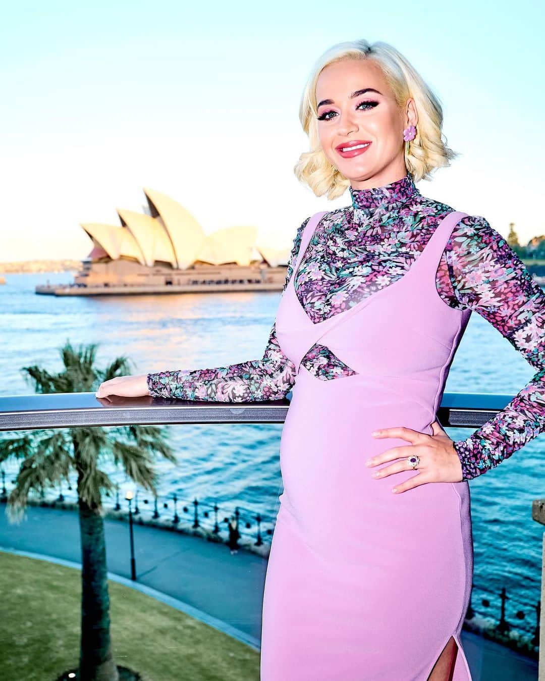
[[[5,274],[5,279],[6,285],[0,285],[0,396],[33,392],[24,380],[23,366],[62,370],[59,348],[65,340],[72,345],[98,343],[99,367],[127,355],[134,362],[131,374],[261,358],[280,299],[280,292],[55,298],[37,296],[35,285],[47,279],[69,282],[72,273]],[[514,395],[533,373],[507,340],[473,314],[446,392]],[[195,497],[205,505],[218,503],[220,520],[235,506],[244,513],[274,518],[282,491],[278,460],[282,424],[184,425],[168,431],[178,464],[159,464],[161,495],[176,492],[182,504],[189,505],[189,513]],[[452,439],[470,433],[448,429]],[[510,598],[506,617],[525,631],[535,627],[535,604],[540,599],[543,529],[531,519],[531,505],[533,499],[545,496],[544,441],[543,434],[538,436],[470,482],[475,548],[472,604],[479,614],[499,618],[499,592],[505,586]],[[125,483],[121,473],[105,468],[115,481]],[[10,466],[8,472],[14,470]],[[491,606],[484,607],[482,599],[489,599]],[[522,621],[515,617],[518,610],[525,613]]]

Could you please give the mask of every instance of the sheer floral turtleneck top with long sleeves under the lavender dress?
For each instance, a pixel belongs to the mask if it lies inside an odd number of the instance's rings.
[[[314,323],[403,276],[436,225],[453,210],[421,195],[410,174],[384,187],[350,187],[350,197],[350,206],[331,210],[320,220],[295,273],[297,298]],[[283,290],[309,219],[295,234]],[[484,317],[536,370],[504,409],[467,439],[455,441],[463,480],[469,480],[545,430],[545,292],[501,234],[483,217],[474,216],[461,219],[452,230],[435,285],[447,305],[470,308]],[[324,381],[354,373],[318,344],[301,364]],[[280,349],[273,324],[261,359],[150,373],[147,383],[152,396],[166,398],[278,400],[293,387],[295,366]]]

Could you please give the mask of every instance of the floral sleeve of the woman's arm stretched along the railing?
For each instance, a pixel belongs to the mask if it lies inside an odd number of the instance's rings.
[[[286,280],[282,293],[293,273],[301,235],[310,217],[297,229],[293,240]],[[295,365],[280,349],[273,324],[265,352],[260,360],[250,360],[210,369],[180,369],[160,371],[146,377],[150,395],[175,397],[183,400],[213,402],[250,402],[280,400],[293,387]]]

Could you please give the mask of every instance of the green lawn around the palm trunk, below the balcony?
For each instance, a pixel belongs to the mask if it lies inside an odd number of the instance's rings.
[[[49,681],[78,663],[80,571],[0,552],[0,678]],[[149,681],[258,681],[259,652],[110,582],[118,665]]]

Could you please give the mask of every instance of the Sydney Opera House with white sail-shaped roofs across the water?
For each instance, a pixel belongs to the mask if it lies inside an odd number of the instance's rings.
[[[168,196],[144,189],[146,212],[118,209],[120,225],[81,223],[93,242],[68,285],[39,285],[38,294],[182,293],[280,290],[290,248],[256,244],[257,227],[212,234]]]

